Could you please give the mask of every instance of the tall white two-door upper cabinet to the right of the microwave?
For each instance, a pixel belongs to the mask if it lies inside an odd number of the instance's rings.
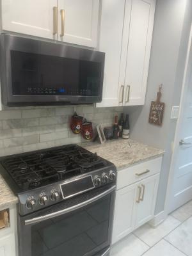
[[[106,52],[99,107],[145,103],[156,0],[102,1],[99,50]]]

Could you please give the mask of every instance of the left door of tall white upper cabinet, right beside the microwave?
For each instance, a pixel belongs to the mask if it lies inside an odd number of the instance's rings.
[[[99,51],[106,53],[106,60],[102,102],[97,104],[97,107],[112,107],[123,104],[124,87],[119,84],[119,75],[124,9],[125,1],[102,1]]]

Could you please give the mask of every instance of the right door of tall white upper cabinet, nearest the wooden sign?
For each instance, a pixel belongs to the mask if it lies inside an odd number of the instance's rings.
[[[124,44],[128,47],[127,54],[126,49],[122,52],[124,63],[126,56],[126,65],[123,68],[125,69],[125,106],[145,103],[155,5],[156,0],[127,0]],[[124,70],[122,72],[124,74]]]

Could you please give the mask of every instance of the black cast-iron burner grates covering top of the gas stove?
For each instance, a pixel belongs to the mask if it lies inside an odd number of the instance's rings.
[[[76,145],[21,154],[1,162],[20,189],[33,189],[70,179],[106,165],[106,161]]]

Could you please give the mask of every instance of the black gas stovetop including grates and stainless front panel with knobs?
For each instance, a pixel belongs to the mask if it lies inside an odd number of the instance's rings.
[[[0,173],[19,196],[20,214],[116,180],[112,163],[77,145],[2,157]]]

